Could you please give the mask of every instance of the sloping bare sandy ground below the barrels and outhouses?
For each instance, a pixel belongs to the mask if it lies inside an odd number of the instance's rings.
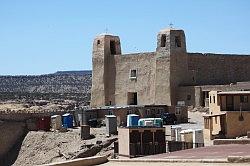
[[[65,161],[87,149],[86,145],[96,144],[96,141],[105,141],[113,137],[105,136],[105,127],[92,128],[91,134],[95,138],[81,140],[80,128],[70,129],[68,132],[29,132],[23,141],[15,166],[31,166],[56,161]],[[97,155],[107,154],[108,147]],[[111,148],[112,149],[112,148]],[[105,152],[107,150],[107,152]]]

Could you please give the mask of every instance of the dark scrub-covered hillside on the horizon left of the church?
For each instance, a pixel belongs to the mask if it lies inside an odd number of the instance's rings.
[[[91,89],[91,71],[58,71],[37,76],[0,76],[0,92],[84,93]]]

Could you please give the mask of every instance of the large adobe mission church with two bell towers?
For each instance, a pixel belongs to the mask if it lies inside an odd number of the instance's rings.
[[[132,54],[122,54],[118,36],[101,34],[92,63],[92,108],[205,106],[211,90],[250,89],[249,55],[189,53],[180,29],[161,30],[155,52]]]

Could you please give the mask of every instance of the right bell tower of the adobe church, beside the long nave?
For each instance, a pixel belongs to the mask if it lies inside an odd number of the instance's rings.
[[[185,84],[188,60],[183,30],[163,29],[157,35],[155,104],[176,105],[179,85]]]

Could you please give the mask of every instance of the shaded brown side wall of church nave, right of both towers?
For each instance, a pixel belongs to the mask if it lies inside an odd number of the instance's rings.
[[[230,84],[250,80],[250,55],[188,53],[195,85]]]

